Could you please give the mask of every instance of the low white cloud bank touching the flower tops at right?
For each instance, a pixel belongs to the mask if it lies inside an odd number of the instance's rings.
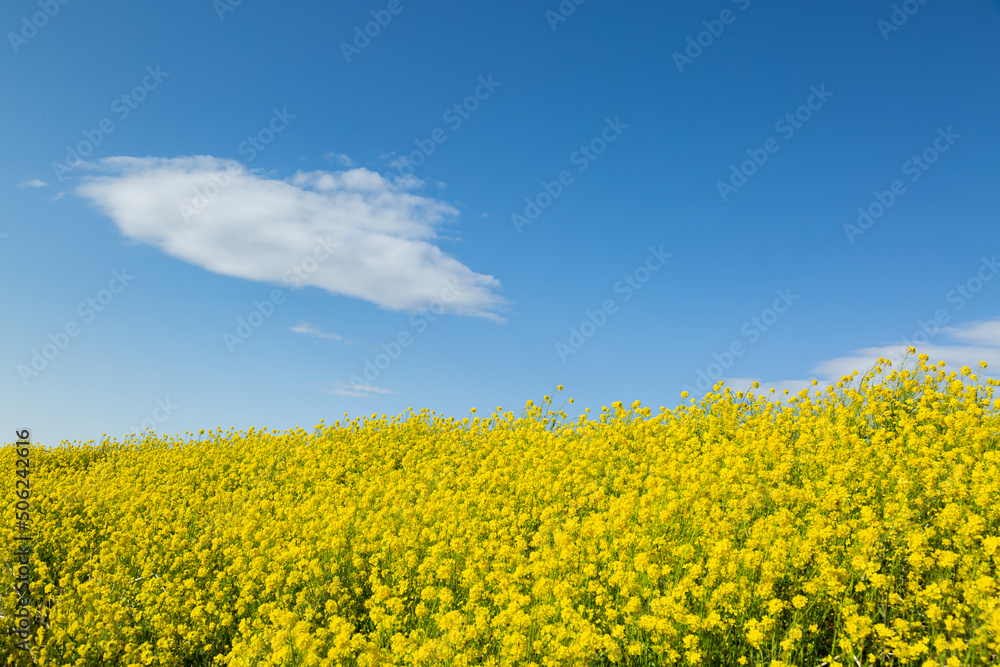
[[[946,371],[958,371],[962,366],[968,366],[981,379],[1000,377],[1000,318],[968,322],[957,327],[945,327],[936,336],[941,338],[932,337],[927,343],[914,344],[918,354],[926,354],[930,357],[928,363],[936,364],[939,361],[944,361]],[[911,343],[899,342],[864,347],[842,357],[821,361],[809,371],[812,375],[808,380],[780,380],[777,382],[765,382],[758,378],[723,378],[723,380],[726,386],[734,392],[746,391],[750,384],[757,380],[760,382],[760,388],[754,390],[755,394],[767,394],[768,389],[773,387],[775,394],[779,397],[784,389],[788,389],[789,395],[792,395],[808,388],[810,395],[812,395],[817,390],[825,391],[828,386],[837,383],[845,375],[851,375],[854,371],[858,371],[859,379],[875,365],[879,357],[889,359],[893,364],[892,368],[899,369],[901,368],[900,362],[906,356],[906,368],[913,368],[916,356],[907,355],[906,351],[910,345]],[[979,368],[980,361],[985,361],[987,364],[985,372]],[[815,387],[811,386],[813,378],[819,381]],[[700,397],[692,396],[692,398]]]

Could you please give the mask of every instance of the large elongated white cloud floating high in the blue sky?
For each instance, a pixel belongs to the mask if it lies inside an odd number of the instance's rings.
[[[433,243],[458,211],[409,192],[415,179],[363,168],[277,179],[212,156],[112,157],[88,166],[105,175],[76,192],[122,234],[209,271],[312,285],[389,310],[436,302],[503,321],[495,313],[505,305],[494,292],[500,281]]]

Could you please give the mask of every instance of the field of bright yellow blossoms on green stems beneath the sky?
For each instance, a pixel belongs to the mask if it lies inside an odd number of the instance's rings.
[[[33,446],[34,658],[998,664],[997,383],[928,362],[657,413]],[[0,654],[32,664],[5,571]]]

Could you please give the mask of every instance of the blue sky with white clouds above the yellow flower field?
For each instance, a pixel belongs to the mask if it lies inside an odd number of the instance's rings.
[[[4,439],[1000,368],[996,2],[0,26]]]

